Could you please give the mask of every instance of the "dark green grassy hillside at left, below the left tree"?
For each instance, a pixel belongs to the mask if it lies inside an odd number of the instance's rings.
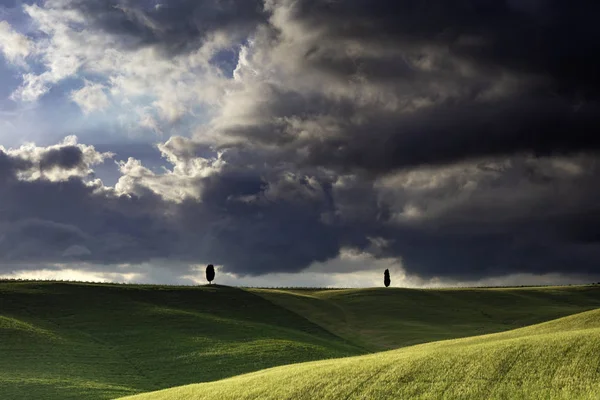
[[[105,399],[362,350],[227,287],[0,283],[0,398]]]

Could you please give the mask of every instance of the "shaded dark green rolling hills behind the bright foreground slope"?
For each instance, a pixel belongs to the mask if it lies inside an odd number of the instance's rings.
[[[506,331],[597,307],[595,286],[269,290],[0,282],[0,398],[116,398]]]

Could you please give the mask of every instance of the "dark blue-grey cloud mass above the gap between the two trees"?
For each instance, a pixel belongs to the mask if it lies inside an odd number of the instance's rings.
[[[339,228],[321,219],[333,211],[326,196],[302,198],[297,190],[314,189],[301,180],[291,186],[273,197],[268,183],[257,177],[215,177],[208,183],[202,207],[193,202],[181,207],[180,226],[192,237],[197,229],[204,232],[185,245],[227,271],[250,275],[296,272],[313,261],[335,257]]]

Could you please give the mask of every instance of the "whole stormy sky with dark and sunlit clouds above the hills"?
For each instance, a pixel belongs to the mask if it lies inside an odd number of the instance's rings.
[[[600,280],[595,0],[0,0],[0,276]]]

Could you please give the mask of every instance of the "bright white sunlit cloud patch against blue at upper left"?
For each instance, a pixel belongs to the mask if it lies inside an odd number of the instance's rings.
[[[207,37],[191,53],[166,57],[152,46],[123,46],[118,35],[94,29],[84,14],[68,5],[47,1],[42,6],[24,7],[33,25],[46,36],[37,41],[33,52],[45,71],[23,75],[14,99],[35,101],[66,78],[93,75],[101,81],[85,82],[71,95],[85,113],[106,109],[110,98],[120,104],[123,115],[117,118],[138,115],[139,126],[158,132],[153,115],[176,122],[202,104],[214,105],[222,96],[227,80],[209,60],[219,49],[231,46],[226,32]],[[140,107],[153,112],[136,112]]]

